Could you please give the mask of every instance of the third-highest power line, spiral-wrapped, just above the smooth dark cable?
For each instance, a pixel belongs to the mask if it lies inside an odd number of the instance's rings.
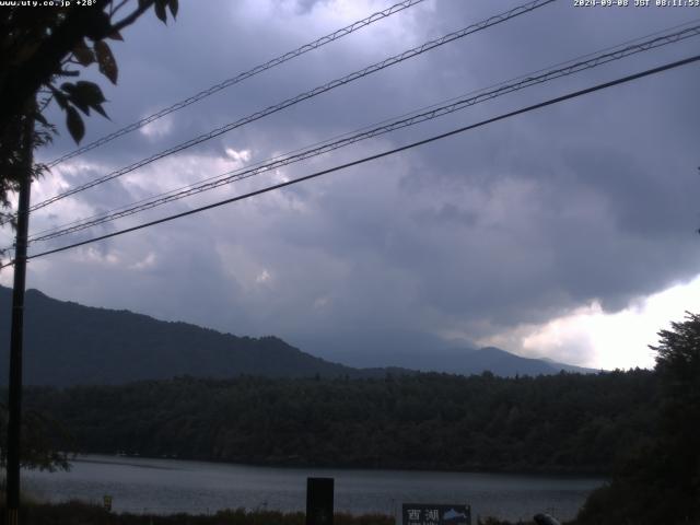
[[[400,128],[413,126],[419,122],[423,122],[423,121],[431,120],[444,115],[448,115],[451,113],[464,109],[466,107],[472,106],[481,102],[495,98],[498,96],[505,95],[508,93],[520,91],[522,89],[537,85],[544,82],[548,82],[550,80],[555,80],[561,77],[567,77],[573,73],[578,73],[587,69],[595,68],[597,66],[602,66],[604,63],[611,62],[614,60],[619,60],[625,57],[629,57],[638,52],[648,51],[650,49],[665,46],[667,44],[681,42],[686,38],[690,38],[692,36],[698,36],[698,35],[700,35],[700,25],[688,27],[673,34],[657,36],[656,38],[652,38],[649,40],[643,40],[621,49],[616,49],[615,51],[611,51],[611,52],[599,54],[597,56],[593,56],[593,58],[590,58],[588,60],[578,61],[574,63],[570,63],[571,62],[570,61],[569,65],[563,68],[557,68],[549,71],[539,70],[539,71],[546,71],[546,72],[540,74],[520,77],[518,78],[520,80],[516,80],[515,82],[512,82],[510,84],[501,83],[499,84],[500,86],[498,89],[494,89],[491,91],[481,90],[481,92],[479,92],[479,94],[476,96],[460,98],[460,100],[452,98],[450,101],[450,104],[442,105],[442,106],[433,105],[431,106],[431,109],[428,112],[415,114],[407,118],[399,118],[397,120],[389,121],[386,125],[371,128],[365,131],[357,132],[354,135],[347,135],[339,140],[332,141],[331,139],[331,141],[326,141],[325,143],[322,143],[323,145],[320,147],[315,147],[315,148],[312,147],[305,150],[298,150],[299,152],[294,154],[281,155],[276,159],[262,161],[261,163],[258,163],[257,167],[238,168],[231,172],[226,172],[222,175],[211,177],[201,183],[197,183],[189,186],[185,186],[183,188],[166,191],[159,196],[143,199],[141,201],[133,202],[131,205],[127,205],[120,208],[116,208],[105,213],[101,213],[101,214],[93,215],[93,217],[78,220],[78,221],[72,221],[61,226],[45,230],[43,232],[38,232],[34,234],[31,237],[31,242],[34,243],[34,242],[52,240],[59,236],[63,236],[70,233],[75,233],[75,232],[85,230],[88,228],[92,228],[98,224],[121,219],[124,217],[132,215],[135,213],[139,213],[141,211],[145,211],[159,206],[163,206],[165,203],[173,202],[175,200],[179,200],[186,197],[190,197],[192,195],[208,191],[226,184],[249,178],[265,172],[269,172],[295,162],[311,159],[313,156],[317,156],[317,155],[337,150],[339,148],[350,145],[361,140],[385,135],[387,132],[390,132]],[[592,55],[586,55],[586,56],[592,56]]]

